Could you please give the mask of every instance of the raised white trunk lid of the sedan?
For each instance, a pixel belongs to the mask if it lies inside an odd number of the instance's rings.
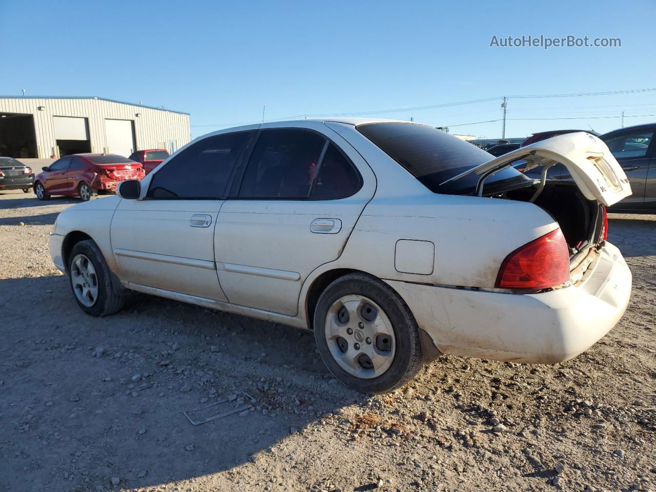
[[[535,167],[562,163],[589,200],[597,200],[606,207],[630,195],[631,187],[625,172],[607,146],[589,133],[569,133],[547,138],[518,148],[497,159],[492,159],[453,176],[441,184],[458,180],[469,174],[478,178],[477,194],[482,194],[485,179],[518,161],[526,161],[525,171]],[[441,185],[440,185],[441,186]]]

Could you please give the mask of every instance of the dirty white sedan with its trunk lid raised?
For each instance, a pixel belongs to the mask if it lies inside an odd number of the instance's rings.
[[[628,304],[605,213],[628,180],[588,133],[490,157],[403,121],[218,131],[62,212],[52,260],[92,316],[138,291],[310,329],[335,377],[364,392],[439,354],[565,361]],[[546,180],[556,163],[573,182]]]

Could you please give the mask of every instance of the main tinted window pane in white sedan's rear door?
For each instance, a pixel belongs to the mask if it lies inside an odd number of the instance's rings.
[[[307,130],[263,131],[246,167],[239,196],[308,197],[325,141]]]

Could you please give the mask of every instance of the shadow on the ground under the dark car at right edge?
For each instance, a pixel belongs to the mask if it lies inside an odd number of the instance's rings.
[[[623,256],[656,255],[656,216],[608,216],[608,240]]]

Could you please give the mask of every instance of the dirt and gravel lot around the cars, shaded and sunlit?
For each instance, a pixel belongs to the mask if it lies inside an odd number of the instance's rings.
[[[86,316],[47,247],[72,203],[0,194],[1,491],[656,490],[656,216],[611,216],[634,290],[588,352],[369,398],[311,333],[145,295]],[[183,414],[221,400],[251,408]]]

